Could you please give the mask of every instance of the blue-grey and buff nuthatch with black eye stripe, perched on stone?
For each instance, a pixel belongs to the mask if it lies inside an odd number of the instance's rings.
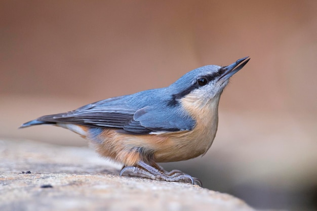
[[[90,141],[104,157],[123,164],[120,176],[202,186],[198,178],[168,172],[158,162],[188,160],[206,154],[218,128],[218,105],[229,78],[250,58],[228,66],[191,70],[170,86],[113,97],[65,113],[45,115],[20,128],[51,124]]]

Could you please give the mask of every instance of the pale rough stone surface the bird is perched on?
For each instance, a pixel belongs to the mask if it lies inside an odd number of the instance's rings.
[[[0,140],[0,210],[254,210],[186,183],[119,177],[89,148]]]

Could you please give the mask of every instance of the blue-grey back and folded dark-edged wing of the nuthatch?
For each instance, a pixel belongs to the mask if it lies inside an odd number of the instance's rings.
[[[131,134],[153,132],[176,132],[191,130],[194,120],[175,107],[160,103],[147,103],[131,96],[122,96],[98,101],[74,111],[42,116],[43,122],[74,123],[98,128],[116,128]],[[137,103],[136,103],[137,102]],[[148,104],[150,104],[148,106]]]

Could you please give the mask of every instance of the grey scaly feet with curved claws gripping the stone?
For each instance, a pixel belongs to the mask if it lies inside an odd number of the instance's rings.
[[[120,172],[120,176],[123,175],[126,171],[132,171],[132,173],[136,174],[137,176],[145,176],[152,180],[165,180],[169,182],[178,182],[180,180],[190,180],[191,184],[199,185],[202,187],[202,182],[197,179],[193,178],[190,175],[184,174],[178,170],[167,172],[164,168],[155,163],[155,167],[143,162],[139,161],[137,166],[125,166],[122,168]],[[159,169],[158,169],[159,168]]]

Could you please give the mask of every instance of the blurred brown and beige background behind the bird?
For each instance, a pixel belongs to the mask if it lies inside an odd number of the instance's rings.
[[[0,1],[0,138],[87,146],[38,116],[250,56],[203,158],[166,164],[260,208],[316,210],[317,1]]]

